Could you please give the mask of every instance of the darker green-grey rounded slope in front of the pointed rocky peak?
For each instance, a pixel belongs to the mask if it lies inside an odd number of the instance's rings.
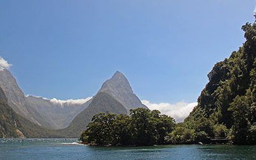
[[[90,123],[93,115],[106,112],[127,114],[127,110],[120,102],[108,95],[108,93],[99,92],[95,95],[88,108],[79,113],[66,129],[59,131],[65,133],[68,137],[77,138]]]

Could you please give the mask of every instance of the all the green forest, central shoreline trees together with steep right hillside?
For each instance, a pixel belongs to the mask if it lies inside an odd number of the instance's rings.
[[[256,24],[242,27],[244,42],[214,65],[196,106],[184,123],[159,111],[138,108],[130,115],[100,113],[80,140],[92,145],[163,145],[211,143],[228,138],[237,145],[256,144]]]

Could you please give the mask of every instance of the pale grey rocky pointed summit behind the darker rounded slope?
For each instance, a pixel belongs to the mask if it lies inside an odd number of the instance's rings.
[[[121,72],[115,74],[102,84],[99,92],[105,92],[118,100],[127,109],[147,108],[141,100],[133,93],[127,78]]]

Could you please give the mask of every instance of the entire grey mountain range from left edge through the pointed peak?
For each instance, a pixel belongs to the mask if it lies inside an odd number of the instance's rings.
[[[12,113],[8,119],[16,122],[15,128],[28,138],[78,137],[97,113],[128,114],[129,109],[147,108],[121,72],[115,72],[104,82],[92,99],[50,100],[25,96],[7,69],[0,70],[0,88],[3,88],[4,109]],[[6,110],[3,115],[4,112]],[[4,125],[13,122],[4,122]],[[7,137],[13,135],[15,132]]]

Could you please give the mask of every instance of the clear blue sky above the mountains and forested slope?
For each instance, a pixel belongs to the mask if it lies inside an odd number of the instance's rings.
[[[64,100],[92,97],[119,70],[144,104],[183,114],[213,65],[243,44],[255,4],[3,0],[0,65],[25,94]]]

